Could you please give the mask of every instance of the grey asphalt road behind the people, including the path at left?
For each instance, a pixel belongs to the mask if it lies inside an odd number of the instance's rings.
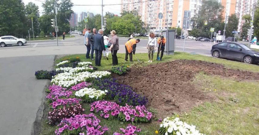
[[[119,53],[125,53],[127,38],[119,38]],[[136,53],[147,52],[147,39],[137,44]],[[185,51],[210,55],[213,43],[186,40]],[[176,51],[183,51],[183,40],[176,40]],[[86,53],[83,36],[59,41],[28,42],[24,46],[0,48],[0,134],[29,135],[41,106],[44,86],[36,70],[51,70],[55,55]]]

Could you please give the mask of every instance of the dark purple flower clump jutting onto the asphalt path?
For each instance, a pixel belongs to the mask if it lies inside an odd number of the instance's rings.
[[[47,70],[39,70],[35,71],[35,76],[37,79],[52,79],[52,76],[56,74],[63,73],[63,71],[47,71]]]

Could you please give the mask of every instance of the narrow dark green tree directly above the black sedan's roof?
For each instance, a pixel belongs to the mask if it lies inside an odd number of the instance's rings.
[[[232,31],[236,31],[238,28],[238,18],[236,17],[236,14],[231,14],[229,16],[228,23],[226,25],[226,36],[234,36],[234,33]]]

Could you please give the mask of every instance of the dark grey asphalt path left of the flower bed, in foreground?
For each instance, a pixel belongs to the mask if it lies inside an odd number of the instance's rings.
[[[0,58],[1,135],[30,135],[48,82],[34,73],[51,70],[53,60],[54,55]]]

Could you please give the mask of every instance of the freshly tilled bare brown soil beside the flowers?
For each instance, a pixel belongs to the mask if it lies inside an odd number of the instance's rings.
[[[227,69],[220,64],[196,60],[176,60],[132,68],[130,73],[114,77],[119,83],[130,85],[135,92],[145,95],[147,107],[156,109],[157,115],[163,117],[185,112],[204,101],[215,99],[191,83],[194,75],[201,71],[237,80],[259,80],[259,73]]]

